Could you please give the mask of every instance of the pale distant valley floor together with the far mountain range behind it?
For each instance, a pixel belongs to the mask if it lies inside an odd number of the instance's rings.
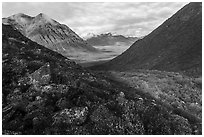
[[[141,38],[113,35],[111,33],[93,35],[86,42],[98,50],[95,53],[67,56],[84,67],[99,65],[107,62],[126,51],[135,41]]]

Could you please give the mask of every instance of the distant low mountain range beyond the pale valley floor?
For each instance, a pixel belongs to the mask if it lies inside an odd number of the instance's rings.
[[[91,34],[90,34],[91,35]],[[125,37],[123,35],[112,35],[111,33],[93,35],[86,41],[92,46],[107,46],[107,45],[132,45],[139,38]]]

